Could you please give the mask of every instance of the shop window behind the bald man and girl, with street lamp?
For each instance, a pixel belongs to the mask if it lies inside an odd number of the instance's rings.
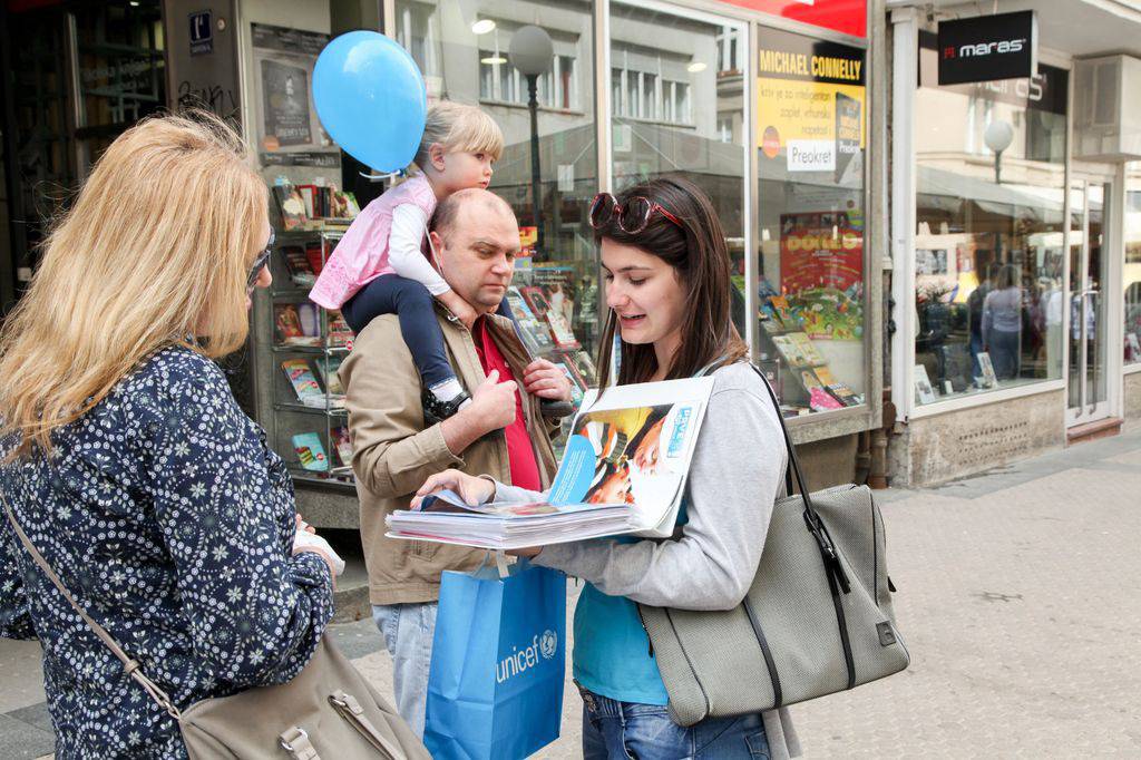
[[[527,79],[510,63],[511,39],[543,21],[553,48],[536,79],[541,110],[532,135]],[[478,103],[503,130],[489,189],[515,210],[523,254],[508,299],[533,354],[560,363],[578,390],[593,385],[598,269],[586,218],[598,192],[593,102],[593,10],[534,1],[397,0],[397,41],[424,71],[429,103]],[[532,139],[540,193],[533,195]]]

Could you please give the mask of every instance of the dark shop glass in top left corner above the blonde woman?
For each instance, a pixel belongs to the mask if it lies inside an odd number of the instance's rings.
[[[9,3],[17,266],[34,267],[50,220],[114,139],[167,107],[157,0]],[[6,40],[6,42],[7,42]],[[74,80],[72,78],[74,76]]]

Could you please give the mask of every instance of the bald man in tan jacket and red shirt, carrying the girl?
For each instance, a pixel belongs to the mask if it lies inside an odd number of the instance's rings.
[[[511,321],[496,313],[519,252],[511,208],[485,189],[454,193],[436,208],[429,241],[444,280],[474,309],[461,321],[437,301],[435,314],[471,403],[426,423],[420,373],[396,315],[373,320],[340,369],[373,620],[393,656],[397,708],[421,736],[440,573],[475,569],[484,552],[386,539],[385,516],[407,509],[428,476],[448,468],[547,488],[558,421],[543,418],[540,401],[570,399],[561,370],[532,361]]]

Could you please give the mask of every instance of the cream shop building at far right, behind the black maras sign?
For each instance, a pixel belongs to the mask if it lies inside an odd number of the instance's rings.
[[[940,87],[938,26],[986,26],[977,5],[888,2],[899,484],[1111,434],[1141,411],[1141,3],[986,3],[1035,13],[1037,71]]]

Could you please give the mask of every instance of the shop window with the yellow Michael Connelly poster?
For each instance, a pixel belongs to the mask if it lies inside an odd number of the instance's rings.
[[[866,401],[861,48],[761,29],[760,363],[786,417]]]

